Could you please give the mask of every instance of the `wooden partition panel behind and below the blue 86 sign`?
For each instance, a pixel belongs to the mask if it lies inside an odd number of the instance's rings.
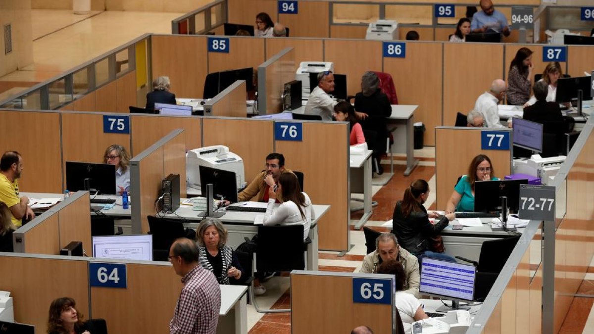
[[[443,43],[406,43],[406,58],[384,58],[384,72],[394,80],[398,102],[419,105],[415,122],[423,122],[425,145],[435,145],[433,128],[441,125]],[[414,78],[414,79],[411,79]],[[433,93],[429,93],[433,92]]]

